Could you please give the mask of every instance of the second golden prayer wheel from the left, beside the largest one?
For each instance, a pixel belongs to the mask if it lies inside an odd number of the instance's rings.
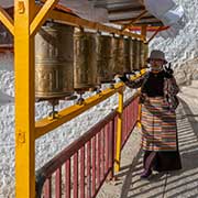
[[[97,33],[75,31],[74,88],[76,90],[88,90],[99,85],[97,75],[98,42]]]

